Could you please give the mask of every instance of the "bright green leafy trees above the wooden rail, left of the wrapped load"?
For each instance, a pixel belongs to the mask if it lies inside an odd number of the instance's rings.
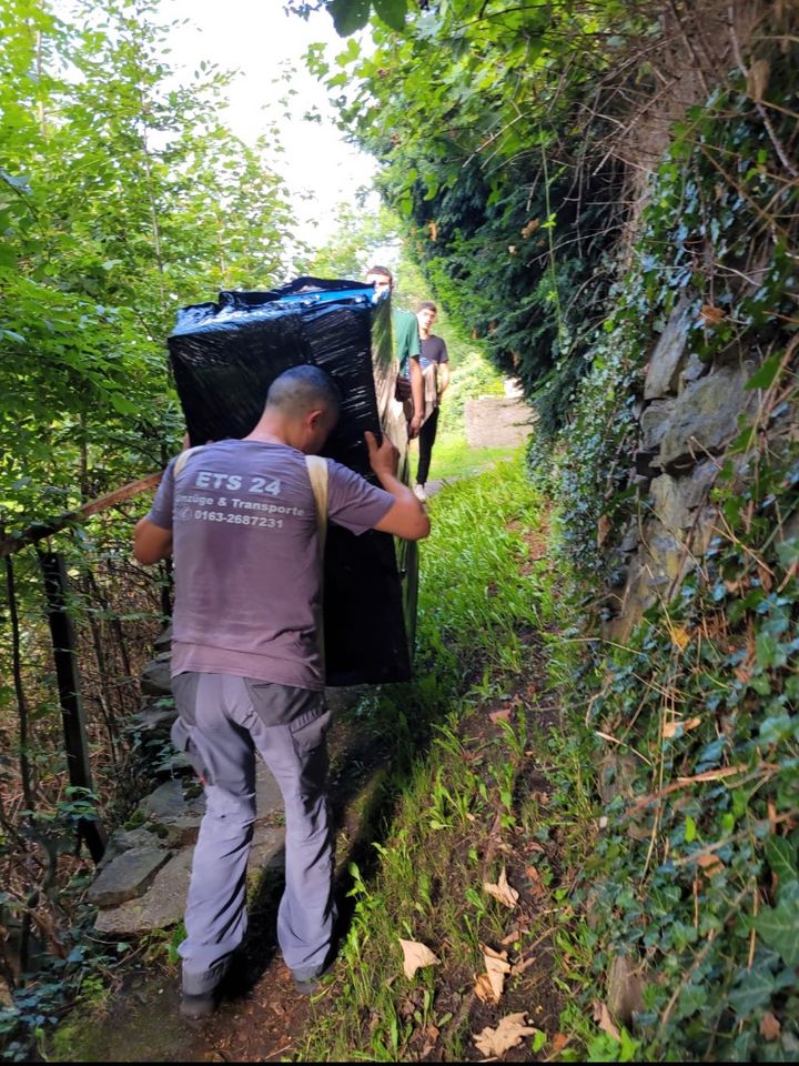
[[[264,147],[173,88],[155,4],[3,0],[0,521],[158,469],[181,435],[164,340],[183,303],[269,284],[290,215]],[[53,499],[53,496],[55,499]],[[23,523],[24,524],[24,523]]]

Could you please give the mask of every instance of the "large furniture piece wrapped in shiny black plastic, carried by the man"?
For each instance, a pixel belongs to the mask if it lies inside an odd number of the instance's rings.
[[[324,454],[374,482],[364,431],[385,431],[401,449],[401,476],[407,476],[405,422],[393,399],[391,311],[387,300],[374,304],[372,298],[372,286],[360,282],[300,278],[269,292],[221,292],[215,304],[182,309],[168,343],[192,445],[246,436],[272,381],[290,366],[313,363],[335,380],[343,400]],[[330,525],[328,685],[409,677],[408,603],[415,597],[407,585],[415,573],[397,567],[407,547],[386,533],[357,537]]]

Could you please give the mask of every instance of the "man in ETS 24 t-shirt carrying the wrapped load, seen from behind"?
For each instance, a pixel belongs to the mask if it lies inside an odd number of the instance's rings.
[[[246,438],[172,460],[135,529],[139,562],[174,554],[173,740],[205,786],[180,946],[181,1013],[191,1018],[215,1008],[219,983],[246,928],[256,750],[285,804],[277,939],[300,992],[315,990],[333,954],[330,714],[317,626],[317,493],[306,456],[323,447],[338,409],[338,391],[323,371],[287,370],[273,382]],[[396,476],[396,449],[385,438],[378,445],[371,433],[366,446],[381,489],[321,461],[328,520],[356,535],[375,529],[407,540],[427,536],[424,509]]]

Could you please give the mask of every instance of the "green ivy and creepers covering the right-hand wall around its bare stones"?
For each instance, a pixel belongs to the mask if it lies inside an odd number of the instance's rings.
[[[796,64],[772,56],[773,98],[795,91]],[[574,585],[562,654],[578,735],[557,755],[563,787],[584,780],[587,744],[620,778],[614,798],[597,801],[606,824],[572,897],[589,922],[577,1004],[587,1015],[616,957],[639,959],[634,1037],[647,1060],[783,1060],[799,1046],[799,467],[790,430],[799,193],[777,150],[792,129],[788,118],[767,129],[737,81],[677,127],[635,266],[611,293],[556,471],[546,472]],[[752,262],[747,280],[741,266]],[[623,644],[606,642],[589,634],[607,616],[597,603],[617,556],[597,551],[598,523],[615,531],[613,542],[647,516],[650,501],[629,481],[634,406],[648,352],[680,299],[692,323],[688,351],[706,363],[757,359],[749,388],[762,390],[760,404],[719,460],[719,517],[701,564]],[[548,466],[550,456],[533,462]],[[577,647],[591,651],[577,657]],[[605,1050],[588,1049],[588,1060],[604,1060]]]

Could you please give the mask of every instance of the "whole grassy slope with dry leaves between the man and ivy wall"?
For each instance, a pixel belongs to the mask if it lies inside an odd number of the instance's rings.
[[[544,501],[517,453],[446,485],[431,510],[416,678],[360,712],[362,725],[394,737],[390,802],[374,861],[351,867],[354,917],[302,1062],[403,1060],[433,1048],[443,1060],[483,1058],[473,1035],[517,1012],[530,1028],[518,1048],[526,1058],[566,1042],[559,997],[579,946],[565,897],[588,819],[579,791],[559,795],[546,776],[557,678],[546,676]],[[520,889],[513,907],[484,888],[504,869]],[[400,938],[439,962],[408,978]],[[506,953],[495,1003],[475,987],[490,965],[484,945]]]

